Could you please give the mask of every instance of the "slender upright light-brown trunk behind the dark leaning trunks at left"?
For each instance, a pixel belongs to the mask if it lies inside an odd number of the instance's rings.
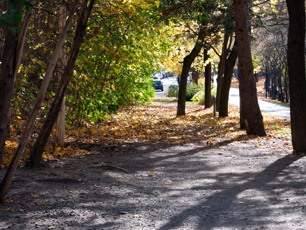
[[[66,7],[62,5],[59,10],[59,34],[62,34],[65,23],[66,23]],[[58,82],[61,81],[62,73],[66,65],[66,54],[65,54],[65,43],[59,53],[61,59],[61,72],[58,75]],[[62,101],[61,110],[58,113],[56,120],[56,132],[55,132],[55,143],[62,148],[65,145],[65,97]]]

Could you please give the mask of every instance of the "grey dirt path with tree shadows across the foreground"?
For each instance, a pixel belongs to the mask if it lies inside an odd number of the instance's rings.
[[[18,168],[0,228],[306,229],[306,159],[279,145],[256,137],[220,147],[122,144]]]

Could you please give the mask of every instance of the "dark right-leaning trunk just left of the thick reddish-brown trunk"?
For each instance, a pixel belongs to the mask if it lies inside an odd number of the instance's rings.
[[[233,77],[233,69],[236,64],[236,59],[238,55],[237,50],[237,40],[235,39],[232,51],[229,57],[225,61],[224,65],[224,77],[222,81],[222,90],[219,103],[219,117],[228,117],[228,102],[230,95],[230,84]]]

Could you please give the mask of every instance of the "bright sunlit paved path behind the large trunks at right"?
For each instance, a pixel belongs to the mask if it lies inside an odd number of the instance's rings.
[[[236,88],[230,88],[229,96],[230,104],[240,106],[239,90]],[[290,118],[290,108],[287,106],[280,106],[271,102],[258,100],[260,110],[266,113],[271,113],[276,117],[288,117]]]

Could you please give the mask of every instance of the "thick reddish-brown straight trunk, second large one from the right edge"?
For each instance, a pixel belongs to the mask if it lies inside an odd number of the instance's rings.
[[[258,104],[256,83],[253,75],[247,1],[234,0],[233,6],[239,57],[239,95],[242,115],[240,119],[244,119],[247,135],[265,136],[266,131]]]

